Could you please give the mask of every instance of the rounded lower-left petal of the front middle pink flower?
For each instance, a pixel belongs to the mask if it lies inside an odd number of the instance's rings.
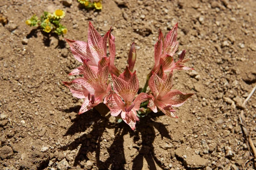
[[[110,109],[112,116],[118,116],[125,108],[124,102],[117,94],[111,95],[110,101],[107,103],[107,106]]]

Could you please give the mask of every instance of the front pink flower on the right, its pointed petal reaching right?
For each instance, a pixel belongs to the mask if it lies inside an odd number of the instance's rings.
[[[159,108],[167,116],[178,118],[173,107],[183,105],[193,94],[183,94],[181,91],[171,90],[173,85],[172,75],[172,71],[169,76],[163,71],[160,71],[158,75],[153,73],[148,82],[153,94],[150,94],[152,99],[149,100],[148,108],[151,108],[154,113],[157,113],[157,108]]]

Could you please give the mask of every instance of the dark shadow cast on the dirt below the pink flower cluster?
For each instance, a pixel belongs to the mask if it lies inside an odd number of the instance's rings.
[[[142,170],[143,158],[145,158],[148,168],[150,170],[156,170],[157,167],[155,163],[157,163],[159,167],[162,167],[162,165],[154,153],[153,142],[156,137],[154,129],[159,131],[162,138],[171,138],[166,127],[162,123],[154,121],[156,117],[162,115],[163,113],[154,113],[141,118],[140,122],[136,125],[136,130],[133,131],[124,122],[113,125],[98,112],[88,111],[87,113],[77,115],[72,121],[73,125],[64,135],[73,136],[76,133],[80,133],[81,136],[67,146],[61,147],[61,150],[74,150],[79,148],[74,160],[74,167],[80,164],[83,168],[83,166],[86,166],[84,161],[90,159],[99,169],[110,168],[113,170],[121,170],[125,169],[127,162],[125,159],[124,136],[129,133],[130,136],[134,138],[132,148],[137,149],[139,152],[131,161],[133,162],[132,169]],[[113,143],[110,146],[108,146],[108,144],[105,145],[108,153],[106,153],[105,150],[101,151],[101,142],[106,128],[114,129],[114,136],[112,139],[109,139],[113,141]],[[94,153],[93,158],[88,156],[88,154],[91,153]],[[107,159],[103,160],[104,158],[102,159],[102,156],[107,157]]]

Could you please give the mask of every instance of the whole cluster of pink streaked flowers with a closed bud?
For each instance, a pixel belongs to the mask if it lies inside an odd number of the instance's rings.
[[[136,71],[132,72],[136,61],[134,43],[128,55],[128,66],[121,73],[114,65],[116,48],[111,28],[101,37],[92,23],[89,23],[88,42],[68,39],[66,41],[74,57],[82,63],[69,75],[83,74],[83,78],[63,82],[70,88],[73,96],[84,99],[79,114],[103,102],[111,110],[112,116],[121,116],[122,120],[134,130],[136,121],[139,121],[137,111],[140,110],[141,103],[148,102],[147,107],[155,113],[162,111],[167,116],[177,118],[173,107],[183,105],[193,95],[171,90],[173,70],[192,70],[184,66],[189,60],[184,59],[185,50],[182,51],[177,62],[173,60],[178,48],[177,24],[167,34],[165,40],[162,32],[159,31],[158,40],[154,45],[154,68],[148,74],[145,87],[139,94]],[[107,43],[109,56],[107,56]],[[108,74],[111,74],[113,83],[109,82]],[[150,91],[145,93],[148,86]]]

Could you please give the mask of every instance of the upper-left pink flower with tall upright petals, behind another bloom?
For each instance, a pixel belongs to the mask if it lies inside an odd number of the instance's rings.
[[[111,46],[110,57],[107,57],[108,39],[109,41],[111,41],[111,43],[113,43],[110,45]],[[72,54],[79,62],[82,62],[83,60],[87,60],[87,63],[96,72],[99,71],[100,68],[103,68],[105,65],[108,65],[108,63],[110,63],[110,67],[109,67],[110,73],[119,75],[119,71],[113,64],[116,51],[114,48],[115,37],[113,37],[113,35],[111,36],[111,28],[103,37],[101,37],[101,35],[93,27],[92,23],[89,22],[88,42],[68,40],[68,39],[65,39],[65,40],[69,43]],[[78,75],[78,74],[83,74],[83,66],[79,66],[78,68],[73,70],[69,75]]]

